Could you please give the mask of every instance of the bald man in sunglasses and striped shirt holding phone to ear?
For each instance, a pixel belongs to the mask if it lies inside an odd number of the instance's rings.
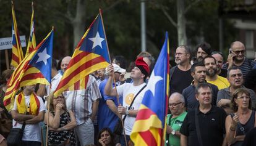
[[[231,53],[228,55],[228,62],[223,65],[223,68],[238,67],[242,71],[242,76],[245,79],[247,74],[256,68],[256,62],[245,59],[245,47],[240,41],[233,42],[230,48]]]

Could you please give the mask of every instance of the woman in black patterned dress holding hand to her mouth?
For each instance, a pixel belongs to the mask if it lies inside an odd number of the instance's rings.
[[[50,95],[48,112],[45,113],[45,123],[49,118],[48,145],[75,145],[73,129],[77,123],[74,113],[66,109],[62,94],[58,97]]]

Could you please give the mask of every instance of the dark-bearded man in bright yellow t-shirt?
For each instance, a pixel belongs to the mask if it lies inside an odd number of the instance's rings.
[[[223,89],[229,86],[228,79],[217,75],[216,60],[212,56],[207,56],[203,59],[203,64],[207,69],[206,80],[208,83],[214,84],[218,89]]]

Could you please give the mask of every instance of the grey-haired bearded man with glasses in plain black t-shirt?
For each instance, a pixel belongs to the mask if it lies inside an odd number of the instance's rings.
[[[191,53],[188,46],[182,45],[177,47],[175,53],[176,66],[170,70],[170,91],[182,93],[183,89],[188,87],[193,77],[190,73]]]

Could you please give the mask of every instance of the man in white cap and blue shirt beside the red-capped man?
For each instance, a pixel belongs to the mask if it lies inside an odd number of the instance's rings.
[[[117,83],[119,81],[120,74],[125,73],[126,70],[119,67],[119,65],[116,64],[113,64],[113,67],[114,79]],[[104,89],[107,81],[108,77],[106,76],[106,78],[99,85],[101,94],[101,99],[98,108],[99,131],[101,131],[101,129],[103,128],[109,128],[111,129],[111,131],[114,131],[114,126],[116,125],[118,118],[121,118],[121,115],[117,112],[118,103],[116,97],[105,95]]]

